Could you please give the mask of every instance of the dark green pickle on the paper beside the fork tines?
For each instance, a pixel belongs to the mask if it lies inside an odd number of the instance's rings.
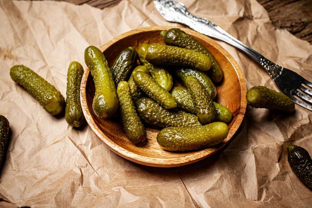
[[[295,111],[295,103],[291,98],[265,86],[250,88],[247,90],[246,98],[247,103],[254,108],[266,108],[288,113]]]

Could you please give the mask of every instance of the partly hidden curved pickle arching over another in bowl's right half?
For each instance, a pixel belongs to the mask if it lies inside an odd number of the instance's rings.
[[[211,99],[214,99],[217,96],[217,88],[205,72],[190,68],[180,68],[174,70],[173,73],[183,85],[185,85],[185,80],[187,77],[196,77],[198,81],[204,85]]]

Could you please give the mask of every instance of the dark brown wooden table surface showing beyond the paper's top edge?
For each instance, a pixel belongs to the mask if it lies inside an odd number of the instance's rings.
[[[57,0],[64,1],[64,0]],[[97,8],[113,5],[120,0],[65,0],[74,4],[87,3]],[[312,0],[257,0],[268,11],[277,28],[312,44]]]

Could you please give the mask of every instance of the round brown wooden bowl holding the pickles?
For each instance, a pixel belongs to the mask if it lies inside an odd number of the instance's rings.
[[[111,66],[119,52],[126,47],[134,46],[137,48],[144,42],[164,43],[159,32],[169,28],[171,27],[152,26],[135,29],[115,37],[100,49]],[[146,128],[147,141],[134,145],[123,133],[118,118],[103,120],[94,114],[92,110],[92,100],[95,92],[94,82],[87,67],[80,87],[81,105],[86,121],[110,150],[132,162],[152,167],[178,167],[203,160],[222,149],[234,138],[244,118],[247,105],[247,88],[243,73],[236,61],[224,48],[209,37],[191,29],[181,29],[206,46],[223,69],[224,78],[222,83],[217,85],[216,102],[227,106],[233,113],[233,119],[229,123],[229,134],[221,144],[213,148],[194,152],[168,152],[163,150],[156,141],[159,129]]]

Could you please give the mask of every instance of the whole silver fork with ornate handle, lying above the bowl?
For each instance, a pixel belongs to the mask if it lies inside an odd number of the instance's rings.
[[[224,41],[247,53],[267,70],[281,92],[298,105],[312,111],[312,90],[309,89],[312,88],[311,82],[296,72],[268,60],[208,19],[192,15],[183,3],[171,0],[154,0],[154,3],[165,20],[184,24],[197,32]]]

